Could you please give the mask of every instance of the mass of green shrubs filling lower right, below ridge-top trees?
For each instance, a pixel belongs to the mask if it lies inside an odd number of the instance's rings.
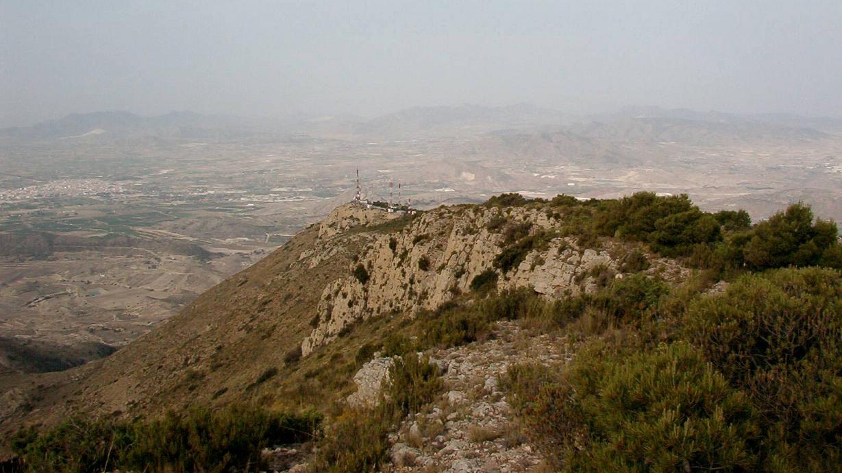
[[[600,309],[605,294],[620,309]],[[552,465],[835,470],[842,274],[781,269],[687,296],[686,286],[604,291],[568,319],[571,334],[591,335],[573,363],[510,372],[514,406]],[[602,323],[584,323],[589,312]]]

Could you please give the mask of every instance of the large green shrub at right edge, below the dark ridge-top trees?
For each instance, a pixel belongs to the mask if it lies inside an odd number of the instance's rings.
[[[842,274],[748,275],[690,304],[685,336],[765,419],[765,469],[826,471],[842,461]]]

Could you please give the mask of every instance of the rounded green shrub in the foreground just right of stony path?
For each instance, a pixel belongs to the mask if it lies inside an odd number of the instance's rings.
[[[563,471],[751,470],[751,403],[686,343],[578,356],[562,374],[514,368],[505,383]]]

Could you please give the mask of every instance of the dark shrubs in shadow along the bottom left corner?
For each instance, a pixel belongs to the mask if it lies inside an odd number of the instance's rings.
[[[256,406],[195,408],[152,421],[73,417],[45,432],[21,430],[11,446],[33,473],[258,470],[261,449],[310,440],[321,419]]]

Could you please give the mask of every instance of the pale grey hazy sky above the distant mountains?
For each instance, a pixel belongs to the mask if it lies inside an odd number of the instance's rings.
[[[0,0],[0,126],[520,102],[842,116],[842,0]]]

